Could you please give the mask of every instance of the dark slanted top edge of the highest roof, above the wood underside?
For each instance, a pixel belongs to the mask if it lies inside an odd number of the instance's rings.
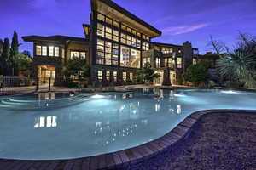
[[[131,20],[137,21],[137,23],[141,24],[142,26],[145,26],[149,30],[154,31],[155,33],[159,34],[159,36],[162,34],[162,32],[160,30],[154,28],[154,26],[151,26],[147,22],[145,22],[144,20],[138,18],[135,14],[131,14],[131,12],[129,12],[125,8],[120,7],[117,3],[114,3],[111,0],[91,0],[92,3],[96,2],[96,1],[100,1],[102,3],[105,3],[109,7],[117,10],[119,13],[125,14],[125,16],[129,17]]]

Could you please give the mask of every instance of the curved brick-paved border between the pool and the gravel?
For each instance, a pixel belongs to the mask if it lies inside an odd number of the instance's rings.
[[[0,170],[95,170],[95,169],[122,169],[127,165],[139,164],[152,156],[169,150],[182,139],[189,136],[195,123],[209,113],[256,113],[247,110],[207,110],[197,111],[180,122],[177,127],[166,133],[163,137],[147,144],[120,150],[117,152],[90,156],[71,160],[53,161],[20,161],[0,159]]]

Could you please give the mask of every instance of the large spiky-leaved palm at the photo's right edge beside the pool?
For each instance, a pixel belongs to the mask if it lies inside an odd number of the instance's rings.
[[[256,87],[256,42],[240,34],[241,42],[233,51],[220,55],[218,69],[220,74],[234,82],[246,83]]]

